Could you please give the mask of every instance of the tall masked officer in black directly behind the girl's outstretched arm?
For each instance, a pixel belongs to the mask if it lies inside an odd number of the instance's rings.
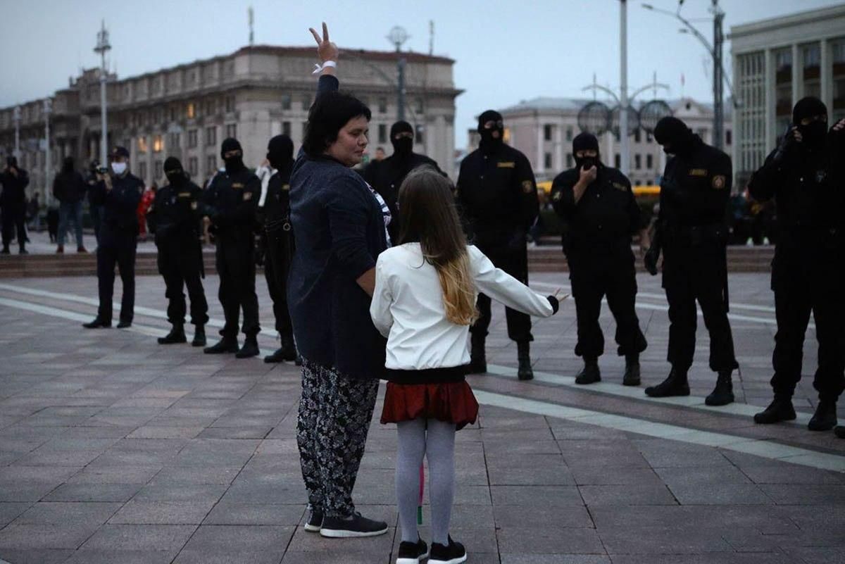
[[[504,122],[498,111],[484,111],[478,117],[481,144],[461,161],[457,203],[472,244],[498,268],[528,283],[526,233],[537,220],[537,183],[531,163],[520,151],[504,144]],[[470,328],[471,373],[487,371],[484,340],[490,326],[490,298],[478,295],[479,317]],[[508,336],[516,341],[521,380],[534,377],[531,366],[531,317],[510,308],[505,310]]]

